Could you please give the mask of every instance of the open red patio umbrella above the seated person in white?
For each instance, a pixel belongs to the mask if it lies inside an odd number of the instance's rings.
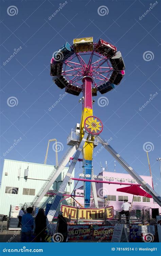
[[[128,186],[128,187],[117,188],[116,191],[132,194],[133,197],[134,197],[134,195],[136,195],[136,196],[143,196],[143,197],[152,198],[151,195],[149,195],[145,190],[143,190],[142,188],[140,188],[137,185],[131,185],[131,186]],[[132,198],[132,202],[133,202],[133,198]],[[131,207],[132,207],[132,203],[131,203]]]

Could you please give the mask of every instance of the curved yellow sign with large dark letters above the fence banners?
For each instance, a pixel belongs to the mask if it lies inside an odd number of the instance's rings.
[[[106,208],[77,208],[68,205],[61,205],[61,211],[63,212],[63,216],[69,218],[69,214],[71,215],[71,219],[105,219],[113,218],[113,206],[109,206]]]

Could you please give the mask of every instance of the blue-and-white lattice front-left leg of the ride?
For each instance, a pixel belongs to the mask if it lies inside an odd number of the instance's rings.
[[[89,134],[88,132],[85,132],[85,134],[83,136],[83,139],[82,139],[81,143],[79,144],[79,147],[78,147],[78,149],[77,149],[77,151],[75,153],[73,161],[72,161],[72,163],[71,163],[71,165],[69,167],[69,170],[68,170],[68,172],[67,172],[67,174],[66,174],[66,176],[65,176],[65,178],[64,178],[64,180],[63,180],[63,182],[62,182],[62,184],[61,184],[61,186],[60,186],[60,188],[58,190],[58,193],[57,193],[57,195],[56,195],[56,197],[54,199],[54,202],[53,202],[53,204],[52,204],[52,206],[50,208],[50,211],[49,211],[49,213],[47,215],[49,222],[52,221],[52,219],[53,219],[53,217],[55,215],[55,212],[56,212],[56,209],[58,207],[58,204],[59,204],[59,202],[61,200],[62,195],[64,194],[64,191],[65,191],[65,188],[66,188],[66,186],[68,184],[68,181],[71,178],[73,169],[74,169],[74,167],[76,165],[76,162],[78,160],[78,157],[79,157],[80,153],[82,152],[82,149],[83,149],[84,143],[85,143],[85,141],[86,141],[86,139],[88,137],[88,134]]]

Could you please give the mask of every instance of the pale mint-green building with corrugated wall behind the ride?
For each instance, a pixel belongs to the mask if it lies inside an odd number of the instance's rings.
[[[21,167],[20,179],[18,180],[18,169]],[[24,169],[29,167],[28,179],[24,179]],[[16,160],[4,159],[1,189],[0,189],[0,214],[8,215],[10,205],[24,204],[25,202],[32,202],[37,195],[40,188],[48,179],[53,171],[54,166],[43,165],[39,163],[22,162]],[[62,181],[67,173],[68,168],[65,167],[62,173],[58,176],[56,181]],[[5,175],[7,174],[7,175]],[[74,172],[73,172],[74,176]],[[35,180],[34,180],[35,179]],[[58,183],[58,188],[61,182]],[[18,194],[5,193],[6,187],[18,188]],[[35,195],[23,195],[23,188],[35,189]],[[71,192],[74,188],[74,181],[71,180]],[[50,189],[56,189],[56,183]],[[70,193],[70,186],[67,185],[67,193]],[[41,202],[51,201],[51,197],[43,197]]]

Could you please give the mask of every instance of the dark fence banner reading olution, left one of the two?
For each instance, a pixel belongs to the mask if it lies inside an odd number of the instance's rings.
[[[90,240],[91,225],[70,225],[68,227],[68,240]]]

